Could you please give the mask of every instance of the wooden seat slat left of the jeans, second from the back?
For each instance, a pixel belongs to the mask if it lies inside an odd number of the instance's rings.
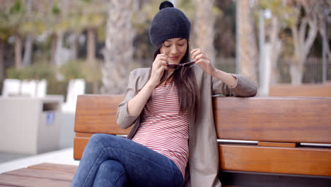
[[[72,172],[54,171],[54,170],[45,170],[45,169],[23,168],[23,169],[16,169],[14,171],[8,171],[4,174],[15,175],[15,176],[30,176],[35,178],[54,179],[61,181],[72,181],[72,179],[74,179],[74,173]]]

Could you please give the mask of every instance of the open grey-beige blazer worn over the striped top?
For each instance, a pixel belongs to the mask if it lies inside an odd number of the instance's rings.
[[[199,114],[196,122],[190,117],[189,160],[185,174],[185,186],[221,186],[219,174],[219,152],[216,141],[214,115],[211,96],[255,96],[257,86],[238,74],[238,84],[231,89],[219,79],[211,77],[200,67],[191,67],[194,71],[198,90],[200,91]],[[117,124],[121,128],[129,128],[128,138],[133,137],[139,128],[139,116],[127,113],[127,102],[133,98],[149,78],[149,68],[134,69],[129,75],[129,84],[125,92],[124,101],[117,108]]]

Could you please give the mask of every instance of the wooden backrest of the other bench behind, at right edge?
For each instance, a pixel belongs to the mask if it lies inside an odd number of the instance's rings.
[[[331,84],[276,84],[270,86],[269,96],[331,97]]]

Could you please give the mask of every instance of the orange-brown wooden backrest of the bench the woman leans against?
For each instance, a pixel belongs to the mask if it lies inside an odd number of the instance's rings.
[[[116,123],[122,100],[78,97],[74,159],[81,159],[94,133],[129,132]],[[214,97],[213,104],[223,185],[330,185],[331,98]]]

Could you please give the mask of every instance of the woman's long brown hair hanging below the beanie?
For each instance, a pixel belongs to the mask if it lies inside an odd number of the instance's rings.
[[[160,49],[163,43],[159,45],[156,50],[153,52],[153,62],[156,59],[156,56],[160,54]],[[151,64],[151,69],[153,66]],[[184,57],[180,60],[180,64],[190,62],[190,42],[187,40],[187,49]],[[151,77],[151,69],[149,70],[149,77]],[[194,72],[192,68],[180,67],[175,69],[173,74],[168,77],[168,72],[165,70],[163,76],[161,77],[160,84],[169,79],[173,79],[176,89],[178,91],[178,101],[180,106],[180,113],[189,112],[190,115],[196,120],[195,116],[199,112],[199,91],[197,89],[197,80],[195,79]]]

